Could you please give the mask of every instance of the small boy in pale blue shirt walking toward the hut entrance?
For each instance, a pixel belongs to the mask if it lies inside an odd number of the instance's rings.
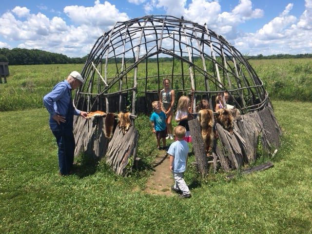
[[[187,166],[187,156],[189,153],[189,146],[183,139],[185,137],[185,127],[178,125],[175,128],[175,135],[177,140],[172,143],[167,152],[170,155],[170,171],[173,172],[175,184],[171,187],[171,190],[180,194],[181,198],[191,197],[189,187],[185,183],[183,173]]]

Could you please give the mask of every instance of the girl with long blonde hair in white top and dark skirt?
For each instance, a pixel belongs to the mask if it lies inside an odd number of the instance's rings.
[[[190,107],[190,98],[186,96],[181,96],[177,103],[176,121],[179,122],[178,125],[181,125],[186,128],[184,140],[186,140],[187,142],[192,142],[192,137],[188,123],[189,107]]]

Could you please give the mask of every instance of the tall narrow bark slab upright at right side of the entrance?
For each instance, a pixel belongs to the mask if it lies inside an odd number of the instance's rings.
[[[197,162],[197,168],[201,176],[207,176],[208,163],[203,138],[201,137],[200,124],[198,119],[189,120],[189,127],[192,136],[193,149]]]

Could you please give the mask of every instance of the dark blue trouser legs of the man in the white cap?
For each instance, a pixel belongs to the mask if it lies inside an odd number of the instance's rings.
[[[59,172],[61,175],[69,175],[74,163],[75,137],[73,135],[73,125],[71,123],[51,122],[50,128],[57,140],[59,147]]]

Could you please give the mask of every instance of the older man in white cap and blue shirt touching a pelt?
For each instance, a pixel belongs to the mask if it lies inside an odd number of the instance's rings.
[[[74,163],[75,138],[73,134],[74,115],[87,117],[87,112],[77,110],[72,101],[71,91],[83,83],[82,76],[73,71],[64,81],[43,97],[43,104],[50,113],[50,129],[59,147],[59,174],[71,173]]]

